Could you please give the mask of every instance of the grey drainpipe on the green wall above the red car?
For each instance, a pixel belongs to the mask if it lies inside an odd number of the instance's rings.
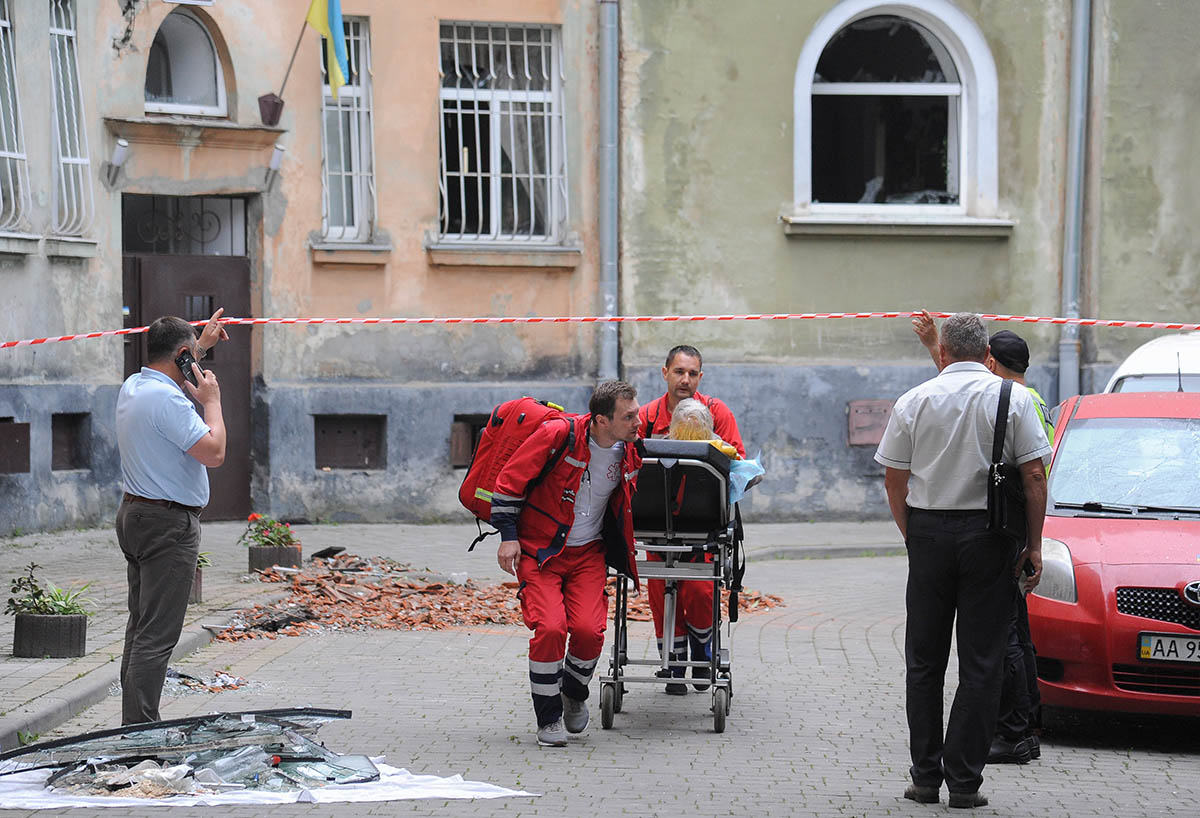
[[[1079,318],[1082,276],[1084,160],[1087,155],[1087,98],[1091,70],[1091,0],[1074,0],[1070,22],[1070,98],[1067,120],[1067,202],[1062,242],[1062,314]],[[1058,401],[1079,395],[1079,325],[1067,324],[1058,338]]]

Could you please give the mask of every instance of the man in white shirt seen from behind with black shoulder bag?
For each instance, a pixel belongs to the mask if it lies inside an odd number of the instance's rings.
[[[1043,458],[1050,444],[1033,399],[1013,386],[1004,462],[1020,468],[1027,541],[1018,549],[988,530],[988,467],[1002,380],[984,366],[988,332],[974,313],[942,325],[943,368],[905,392],[875,459],[887,468],[892,517],[908,551],[905,630],[912,784],[905,798],[936,804],[944,781],[952,807],[983,806],[988,760],[1013,607],[1013,573],[1028,561],[1042,577]],[[955,622],[956,619],[956,622]],[[955,632],[959,686],[942,730],[942,688]]]

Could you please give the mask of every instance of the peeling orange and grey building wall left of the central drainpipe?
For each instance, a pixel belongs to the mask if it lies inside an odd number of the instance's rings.
[[[70,260],[41,249],[49,206],[46,180],[52,178],[43,42],[48,13],[44,2],[10,5],[20,42],[30,46],[20,49],[30,59],[19,65],[19,83],[36,200],[30,233],[37,249],[16,255],[4,251],[17,243],[0,246],[0,337],[121,326],[122,194],[244,197],[254,315],[599,309],[594,4],[343,2],[347,17],[366,18],[370,25],[378,206],[370,246],[342,248],[320,237],[320,38],[311,29],[301,37],[277,127],[262,125],[257,103],[260,95],[280,90],[307,0],[188,6],[205,22],[221,56],[228,116],[220,121],[145,110],[146,58],[162,20],[180,6],[80,1],[79,60],[97,217],[88,233],[91,254]],[[560,28],[570,207],[562,247],[572,252],[557,261],[547,265],[536,251],[448,258],[427,248],[438,227],[440,20]],[[130,140],[131,154],[109,187],[101,179],[102,166],[118,137]],[[268,186],[265,170],[276,143],[287,150],[278,178]],[[545,392],[583,409],[581,390],[596,369],[595,329],[584,326],[271,326],[234,335],[242,342],[247,336],[253,348],[252,503],[258,511],[289,518],[450,518],[462,477],[449,463],[455,416],[486,413],[511,390]],[[112,415],[122,349],[120,339],[108,338],[0,356],[0,419],[31,423],[30,471],[0,474],[0,534],[110,519],[120,497]],[[71,476],[52,473],[53,411],[92,413],[92,469]],[[317,469],[314,411],[385,415],[386,468]]]

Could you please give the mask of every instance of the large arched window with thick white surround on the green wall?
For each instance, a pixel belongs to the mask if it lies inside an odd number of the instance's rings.
[[[996,215],[996,67],[948,0],[842,0],[796,72],[796,215]]]

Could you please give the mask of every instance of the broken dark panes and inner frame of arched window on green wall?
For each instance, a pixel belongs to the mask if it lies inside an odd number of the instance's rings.
[[[812,202],[956,205],[961,98],[929,29],[888,14],[841,29],[812,78]]]

